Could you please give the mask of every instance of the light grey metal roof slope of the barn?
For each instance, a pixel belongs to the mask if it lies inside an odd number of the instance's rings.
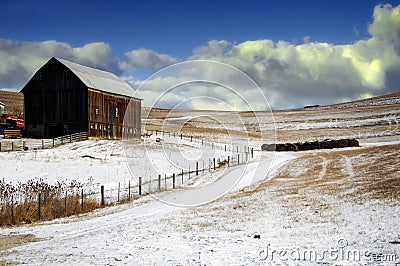
[[[55,57],[69,68],[88,88],[133,97],[133,89],[115,74]]]

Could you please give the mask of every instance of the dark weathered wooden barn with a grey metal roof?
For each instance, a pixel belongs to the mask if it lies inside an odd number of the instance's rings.
[[[27,137],[88,132],[91,138],[140,138],[141,99],[110,72],[53,57],[21,92]]]

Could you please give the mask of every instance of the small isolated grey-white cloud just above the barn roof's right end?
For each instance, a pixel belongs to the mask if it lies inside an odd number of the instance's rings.
[[[121,62],[120,66],[124,70],[133,68],[161,69],[175,64],[178,60],[167,54],[160,54],[153,50],[138,49],[125,53],[127,61]]]

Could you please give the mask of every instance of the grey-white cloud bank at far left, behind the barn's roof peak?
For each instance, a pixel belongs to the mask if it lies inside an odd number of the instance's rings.
[[[121,74],[108,44],[89,43],[82,47],[54,40],[16,42],[0,39],[0,88],[21,89],[29,77],[51,57]]]

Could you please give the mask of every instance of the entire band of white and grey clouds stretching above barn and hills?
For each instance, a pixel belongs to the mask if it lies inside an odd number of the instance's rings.
[[[187,59],[213,60],[238,68],[259,85],[274,108],[329,104],[398,91],[400,6],[376,6],[368,31],[369,38],[345,45],[312,41],[309,36],[304,37],[301,44],[272,40],[241,43],[211,40],[204,46],[196,47]],[[57,41],[18,43],[0,39],[0,88],[26,81],[51,56],[123,74],[135,89],[143,85],[143,81],[133,78],[136,70],[159,70],[179,61],[172,55],[137,49],[128,51],[124,60],[117,62],[112,57],[110,46],[105,43],[71,47]],[[151,86],[140,90],[139,95],[144,99],[144,105],[174,84],[201,79],[227,84],[253,101],[257,108],[265,108],[254,86],[242,83],[229,71],[219,67],[187,66],[181,69],[178,76],[177,73],[169,75],[166,71],[165,75],[148,81]],[[215,86],[214,90],[204,84],[191,84],[184,88],[165,97],[163,107],[172,107],[178,101],[195,98],[199,94],[220,100],[225,97],[230,106],[238,109],[246,107],[239,100],[234,102],[220,86]],[[196,98],[192,103],[186,102],[186,106],[206,106],[206,102],[201,101]]]

